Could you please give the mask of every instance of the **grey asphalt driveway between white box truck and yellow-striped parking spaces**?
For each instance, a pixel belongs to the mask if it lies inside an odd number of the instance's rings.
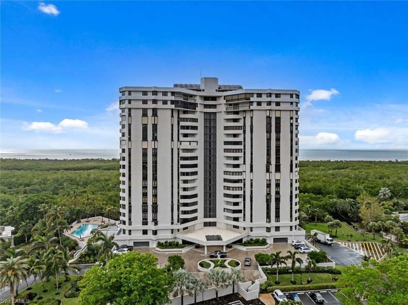
[[[338,242],[334,242],[332,246],[317,242],[316,246],[322,249],[322,251],[326,252],[327,256],[330,257],[330,259],[337,265],[360,265],[362,262],[361,254],[341,245]]]

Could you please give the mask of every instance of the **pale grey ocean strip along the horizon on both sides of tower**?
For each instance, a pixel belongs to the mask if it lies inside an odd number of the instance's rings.
[[[0,158],[119,159],[119,149],[0,149]],[[408,161],[408,150],[301,149],[301,161]]]

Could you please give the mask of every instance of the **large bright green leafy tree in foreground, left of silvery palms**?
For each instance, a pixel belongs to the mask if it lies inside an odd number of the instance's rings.
[[[81,304],[160,305],[170,302],[173,278],[157,268],[151,253],[130,251],[116,255],[106,266],[94,266],[80,282]]]

